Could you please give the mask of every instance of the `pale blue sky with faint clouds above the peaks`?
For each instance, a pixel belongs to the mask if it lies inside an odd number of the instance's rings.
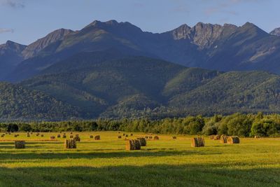
[[[148,32],[186,23],[253,22],[280,27],[279,0],[0,0],[0,43],[29,44],[52,30],[81,29],[93,20],[128,21]]]

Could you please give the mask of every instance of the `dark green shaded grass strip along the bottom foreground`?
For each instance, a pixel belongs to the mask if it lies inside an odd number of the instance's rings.
[[[0,186],[279,186],[280,169],[213,165],[0,167]]]

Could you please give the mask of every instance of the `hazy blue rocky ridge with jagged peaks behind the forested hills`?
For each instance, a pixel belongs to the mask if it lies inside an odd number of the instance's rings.
[[[280,38],[247,22],[194,27],[182,25],[162,34],[143,32],[129,22],[94,21],[80,31],[59,29],[32,43],[9,81],[21,81],[81,52],[116,48],[127,55],[156,57],[186,67],[222,71],[265,70],[280,73]]]

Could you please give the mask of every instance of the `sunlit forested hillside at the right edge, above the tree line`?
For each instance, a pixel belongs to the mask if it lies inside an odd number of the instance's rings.
[[[188,113],[279,112],[280,77],[262,71],[232,71],[176,95],[169,106]]]

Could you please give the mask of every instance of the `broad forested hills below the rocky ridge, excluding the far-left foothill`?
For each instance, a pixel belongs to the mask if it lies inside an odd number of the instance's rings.
[[[21,85],[48,93],[92,118],[280,111],[280,77],[275,74],[186,68],[147,57],[92,62],[92,55],[97,52],[83,53],[81,64],[87,66],[75,69],[78,61],[70,57],[63,61],[69,71],[57,68],[50,74],[62,63],[58,62]]]

